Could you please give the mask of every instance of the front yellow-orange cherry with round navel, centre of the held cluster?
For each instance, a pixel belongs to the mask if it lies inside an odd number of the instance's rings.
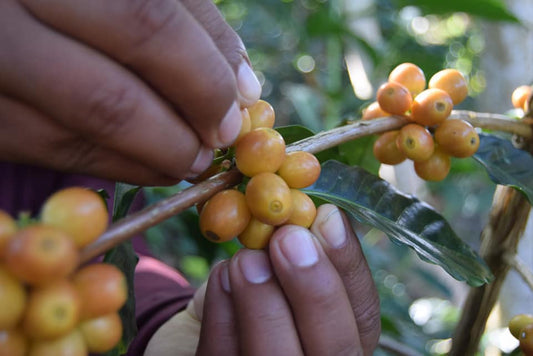
[[[275,173],[259,173],[246,186],[246,204],[258,220],[281,225],[292,214],[292,195],[283,178]]]

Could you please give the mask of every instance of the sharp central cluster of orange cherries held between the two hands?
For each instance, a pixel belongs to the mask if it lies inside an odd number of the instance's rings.
[[[244,183],[241,189],[215,194],[201,207],[200,230],[214,242],[237,237],[245,247],[262,249],[281,225],[311,226],[316,207],[300,189],[318,179],[320,163],[308,152],[286,152],[285,140],[273,129],[275,113],[268,102],[259,100],[244,109],[242,118],[232,150]]]

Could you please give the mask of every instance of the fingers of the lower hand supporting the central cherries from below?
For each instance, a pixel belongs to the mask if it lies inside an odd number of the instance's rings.
[[[284,226],[268,252],[243,249],[213,269],[197,355],[372,354],[379,299],[359,242],[333,205],[311,231]]]

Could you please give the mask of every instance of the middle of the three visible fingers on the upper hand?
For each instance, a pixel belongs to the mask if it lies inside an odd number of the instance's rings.
[[[131,68],[173,104],[207,146],[229,146],[237,137],[241,116],[235,74],[179,1],[22,2],[49,26]]]

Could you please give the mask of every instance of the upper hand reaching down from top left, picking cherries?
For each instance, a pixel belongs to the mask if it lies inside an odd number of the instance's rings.
[[[0,160],[135,184],[203,171],[261,92],[211,0],[4,0],[0,53]]]

